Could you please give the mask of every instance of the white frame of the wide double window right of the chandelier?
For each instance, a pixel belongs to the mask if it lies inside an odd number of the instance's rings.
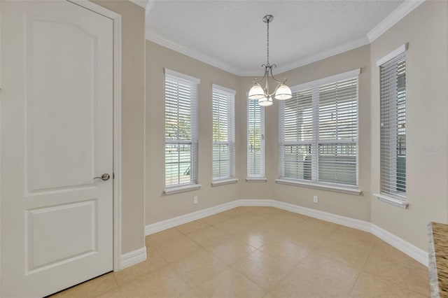
[[[279,178],[277,183],[288,185],[301,185],[305,187],[313,187],[325,190],[335,190],[337,192],[345,192],[350,194],[360,194],[358,190],[359,185],[359,74],[360,69],[353,69],[339,73],[335,76],[328,76],[308,83],[296,85],[291,87],[293,93],[311,92],[311,107],[312,107],[312,139],[306,141],[285,141],[284,135],[284,108],[285,103],[281,102],[279,107]],[[325,85],[338,83],[340,81],[356,79],[356,139],[335,139],[335,140],[320,140],[319,139],[319,90]],[[282,114],[283,113],[283,114]],[[337,145],[343,143],[354,143],[356,145],[356,185],[346,183],[333,183],[329,181],[319,180],[319,163],[318,163],[318,146],[325,143],[335,143]],[[288,178],[285,176],[285,162],[284,162],[284,146],[310,146],[311,148],[311,179]]]

